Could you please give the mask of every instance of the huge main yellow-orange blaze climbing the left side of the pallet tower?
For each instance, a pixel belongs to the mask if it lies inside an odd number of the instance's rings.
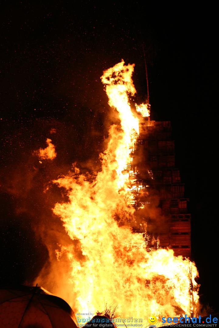
[[[122,60],[103,72],[109,105],[118,111],[120,125],[110,127],[108,147],[100,155],[102,170],[92,179],[75,168],[54,181],[69,197],[69,202],[55,205],[54,213],[71,239],[79,240],[83,255],[78,259],[74,247],[68,250],[71,278],[65,299],[73,310],[101,312],[107,303],[118,305],[123,318],[146,322],[151,314],[173,318],[194,311],[198,272],[194,263],[174,256],[173,250],[147,251],[142,234],[132,233],[128,225],[119,226],[116,219],[119,216],[124,222],[135,211],[130,206],[126,170],[139,134],[138,118],[129,102],[136,92],[133,70],[134,64],[125,65]],[[62,251],[64,246],[58,256]]]

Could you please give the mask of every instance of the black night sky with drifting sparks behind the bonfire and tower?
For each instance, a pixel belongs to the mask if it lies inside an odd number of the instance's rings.
[[[31,282],[48,259],[34,226],[43,225],[61,196],[54,190],[43,198],[45,181],[66,173],[74,161],[98,169],[112,121],[102,71],[122,58],[135,63],[136,102],[145,100],[144,44],[151,119],[172,123],[176,167],[190,198],[201,301],[218,310],[215,9],[159,6],[22,1],[2,8],[2,284]],[[51,128],[57,130],[52,136]],[[59,157],[40,167],[32,154],[49,136]]]

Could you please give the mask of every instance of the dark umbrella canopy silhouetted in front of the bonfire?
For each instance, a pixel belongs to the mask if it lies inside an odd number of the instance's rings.
[[[62,298],[41,287],[0,287],[0,327],[76,328]]]

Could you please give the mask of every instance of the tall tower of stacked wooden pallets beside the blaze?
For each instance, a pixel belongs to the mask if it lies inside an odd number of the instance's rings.
[[[138,181],[149,186],[149,194],[152,189],[157,191],[165,217],[166,229],[159,236],[160,246],[173,249],[175,255],[189,257],[191,215],[187,210],[188,198],[184,196],[185,185],[175,167],[170,121],[142,121],[136,150],[141,154],[141,162],[137,162]]]

